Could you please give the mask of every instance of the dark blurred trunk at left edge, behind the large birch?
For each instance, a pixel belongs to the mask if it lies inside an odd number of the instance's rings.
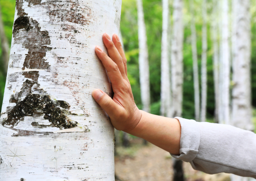
[[[1,10],[0,5],[0,10]],[[6,38],[6,34],[4,32],[4,23],[2,20],[2,13],[0,12],[0,39],[1,39],[1,48],[2,48],[2,65],[4,66],[4,74],[7,74],[8,63],[10,58],[10,45]]]

